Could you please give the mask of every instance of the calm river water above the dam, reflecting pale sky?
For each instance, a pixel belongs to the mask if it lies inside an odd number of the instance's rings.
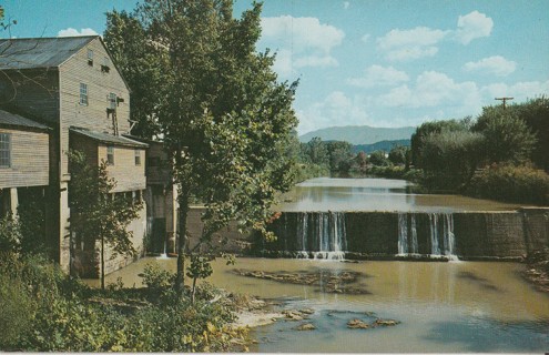
[[[388,179],[317,178],[297,184],[285,195],[282,211],[508,211],[517,204],[461,195],[415,193],[414,184]]]

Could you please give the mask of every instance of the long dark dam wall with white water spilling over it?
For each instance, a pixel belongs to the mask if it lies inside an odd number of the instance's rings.
[[[284,212],[264,255],[519,260],[548,245],[547,209],[506,212]],[[538,245],[539,244],[539,245]]]

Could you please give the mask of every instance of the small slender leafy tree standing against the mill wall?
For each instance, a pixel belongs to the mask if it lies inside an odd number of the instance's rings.
[[[82,152],[70,151],[69,166],[71,232],[92,245],[100,242],[101,287],[104,288],[105,246],[111,247],[112,256],[135,253],[131,240],[133,233],[126,226],[139,216],[143,203],[112,194],[116,183],[108,176],[105,161],[93,166]]]

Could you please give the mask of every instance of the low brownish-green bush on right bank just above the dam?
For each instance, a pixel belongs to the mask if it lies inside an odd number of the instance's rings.
[[[475,175],[469,193],[508,202],[549,205],[549,175],[528,165],[494,164]]]

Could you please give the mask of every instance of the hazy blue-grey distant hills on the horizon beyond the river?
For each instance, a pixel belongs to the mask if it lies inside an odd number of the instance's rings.
[[[416,131],[415,126],[403,126],[396,129],[376,128],[369,125],[346,125],[331,126],[326,129],[308,132],[299,136],[301,142],[308,142],[313,138],[318,136],[323,141],[346,141],[353,145],[374,144],[383,141],[408,140],[411,133]]]

